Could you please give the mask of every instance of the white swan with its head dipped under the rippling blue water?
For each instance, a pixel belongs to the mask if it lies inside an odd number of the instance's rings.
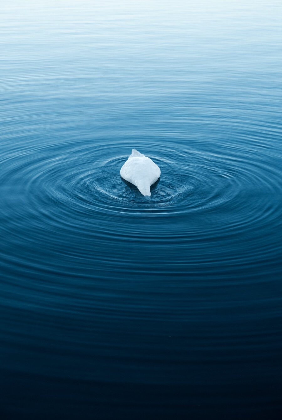
[[[158,165],[135,149],[132,149],[131,155],[120,170],[120,176],[137,186],[143,195],[151,195],[150,187],[160,178],[160,174]]]

